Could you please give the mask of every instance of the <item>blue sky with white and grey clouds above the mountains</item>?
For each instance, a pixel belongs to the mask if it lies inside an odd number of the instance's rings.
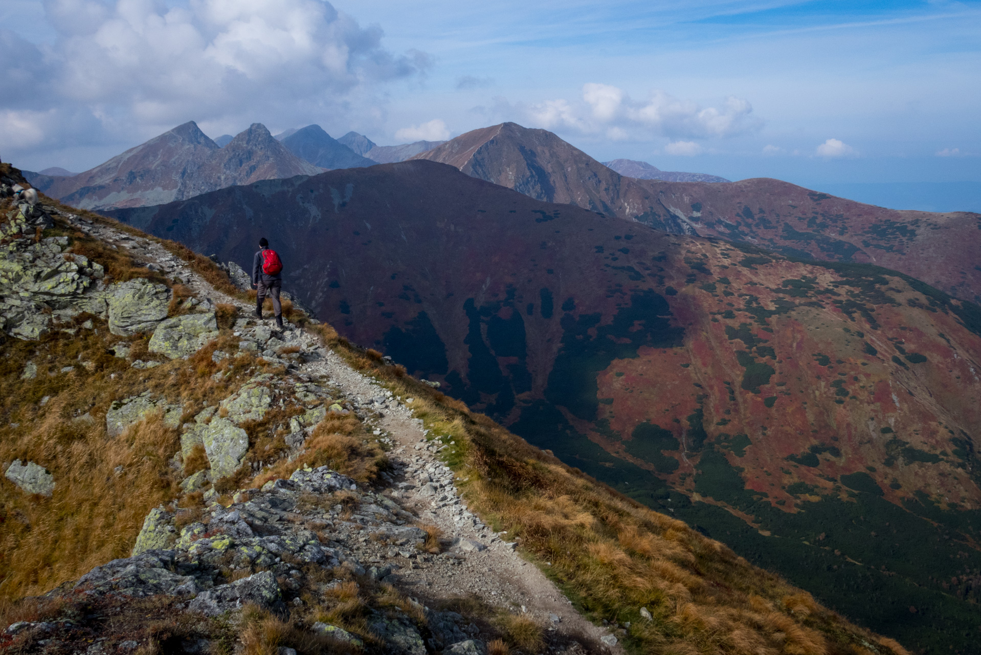
[[[731,180],[981,182],[981,0],[3,0],[0,26],[0,158],[28,170],[189,120],[514,121]]]

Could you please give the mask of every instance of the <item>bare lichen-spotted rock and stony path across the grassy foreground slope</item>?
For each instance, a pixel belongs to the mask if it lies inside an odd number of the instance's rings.
[[[166,361],[192,355],[219,335],[215,302],[250,310],[212,289],[163,246],[67,216],[75,229],[126,247],[145,259],[148,268],[196,293],[196,298],[183,301],[190,313],[168,318],[171,291],[166,286],[142,278],[107,284],[99,264],[66,255],[67,238],[35,238],[28,228],[43,229],[51,219],[43,208],[26,210],[19,208],[18,216],[8,217],[8,246],[0,259],[3,329],[13,337],[73,332],[78,328],[68,321],[89,312],[104,318],[115,335],[152,332],[149,351]],[[227,269],[238,273],[232,265]],[[147,391],[118,399],[105,417],[107,433],[120,435],[151,414],[161,415],[166,425],[181,432],[181,452],[171,463],[179,471],[203,449],[207,467],[185,470],[181,489],[184,494],[202,492],[204,509],[181,509],[181,499],[174,499],[151,510],[129,558],[96,567],[49,596],[92,602],[160,599],[190,617],[227,621],[252,605],[279,616],[295,617],[297,611],[303,616],[305,602],[342,585],[383,592],[392,585],[409,598],[409,606],[372,609],[360,633],[325,621],[300,620],[300,628],[319,635],[329,650],[333,643],[347,650],[478,655],[498,634],[488,617],[465,618],[430,607],[469,594],[486,607],[535,617],[554,635],[549,639],[552,652],[595,650],[600,639],[604,647],[618,650],[614,635],[585,622],[538,569],[518,557],[515,542],[506,541],[505,535],[468,511],[453,471],[442,460],[443,451],[455,443],[431,433],[413,416],[412,399],[394,396],[348,367],[314,335],[288,323],[276,330],[262,320],[239,318],[232,330],[238,340],[235,348],[214,351],[213,359],[249,353],[266,365],[253,366],[240,384],[231,370],[216,373],[217,382],[229,385],[224,400],[181,424],[180,404]],[[125,341],[116,343],[114,352],[134,368],[160,364],[133,359]],[[268,364],[283,372],[263,372]],[[33,363],[23,371],[23,377],[38,374]],[[288,410],[284,423],[269,429],[282,434],[285,428],[294,471],[261,489],[238,490],[228,506],[219,503],[215,483],[240,472],[245,464],[246,423],[263,420],[274,408]],[[302,463],[307,438],[329,412],[354,413],[371,432],[368,439],[387,450],[390,467],[374,487],[358,485],[326,466]],[[87,414],[78,419],[93,420]],[[278,462],[279,456],[251,465],[258,473]],[[27,493],[50,495],[57,484],[34,463],[15,462],[6,476]],[[438,547],[420,525],[433,526],[430,530],[441,535]],[[0,636],[7,643],[16,640],[27,651],[73,652],[84,646],[84,652],[97,655],[148,646],[104,623],[64,617],[17,623]],[[218,646],[205,634],[182,642],[181,648],[207,652]]]

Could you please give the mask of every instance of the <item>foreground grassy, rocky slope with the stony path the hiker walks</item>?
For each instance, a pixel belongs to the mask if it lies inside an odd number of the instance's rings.
[[[330,326],[252,316],[209,258],[12,183],[0,289],[42,318],[5,305],[4,652],[906,654]]]

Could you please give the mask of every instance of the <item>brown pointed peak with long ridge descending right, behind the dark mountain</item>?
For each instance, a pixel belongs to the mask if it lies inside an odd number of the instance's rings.
[[[417,158],[657,230],[806,259],[872,263],[981,301],[981,214],[897,211],[770,179],[725,185],[637,180],[550,132],[514,123],[457,136]]]

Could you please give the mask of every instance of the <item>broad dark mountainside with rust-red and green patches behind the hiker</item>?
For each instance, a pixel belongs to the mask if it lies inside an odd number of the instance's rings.
[[[969,650],[977,305],[425,160],[114,215],[242,262],[275,222],[285,286],[346,337],[860,623]]]

